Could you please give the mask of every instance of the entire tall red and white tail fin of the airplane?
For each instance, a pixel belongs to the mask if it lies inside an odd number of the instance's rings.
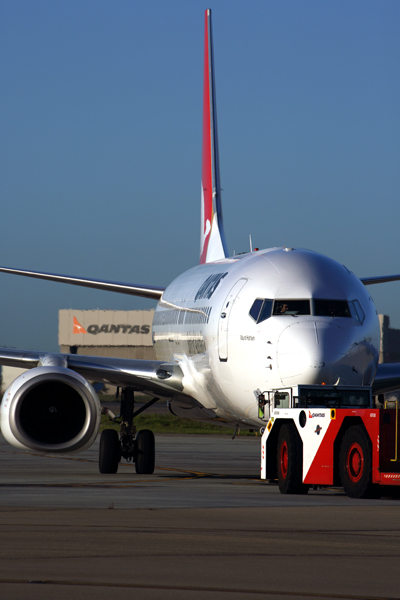
[[[207,9],[205,14],[203,94],[200,264],[219,260],[228,255],[221,208],[217,109],[215,102],[214,55],[210,9]]]

